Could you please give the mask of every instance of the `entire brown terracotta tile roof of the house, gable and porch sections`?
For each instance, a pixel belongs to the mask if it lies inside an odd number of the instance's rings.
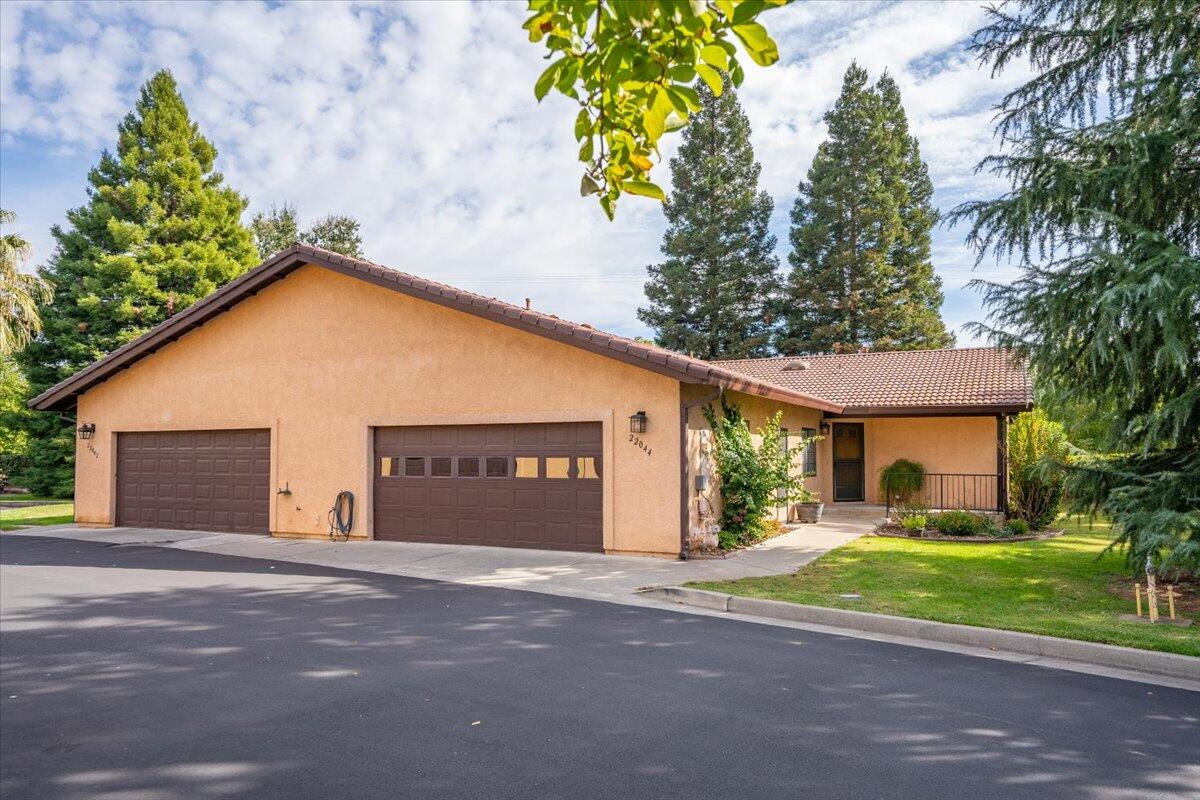
[[[1025,369],[991,348],[702,361],[380,264],[296,245],[276,253],[204,300],[46,390],[29,402],[30,407],[40,410],[71,408],[74,398],[88,389],[307,264],[553,338],[684,383],[724,386],[834,414],[896,413],[904,409],[998,413],[1028,408],[1032,399]],[[785,368],[800,362],[805,368]]]

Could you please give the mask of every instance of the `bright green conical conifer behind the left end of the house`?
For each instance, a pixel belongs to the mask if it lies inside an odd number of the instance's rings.
[[[187,308],[257,263],[241,224],[246,200],[212,170],[169,72],[155,74],[118,126],[116,152],[88,175],[86,205],[55,225],[41,273],[54,300],[42,335],[19,355],[38,393],[149,327]],[[73,489],[73,426],[52,414],[30,423],[34,464],[23,481],[38,494]]]

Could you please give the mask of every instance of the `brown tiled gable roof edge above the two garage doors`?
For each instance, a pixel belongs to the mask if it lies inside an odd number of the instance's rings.
[[[29,405],[40,410],[64,410],[71,408],[74,404],[74,398],[88,391],[88,389],[107,380],[118,371],[131,366],[151,353],[167,347],[191,330],[224,313],[246,297],[262,291],[270,283],[287,277],[306,264],[323,266],[421,300],[546,336],[566,344],[670,375],[684,383],[724,386],[736,391],[772,397],[787,403],[809,405],[827,411],[839,411],[841,409],[838,403],[761,380],[744,372],[730,369],[724,365],[701,361],[700,359],[665,350],[653,344],[643,344],[630,338],[606,333],[590,325],[570,323],[552,314],[530,311],[502,302],[494,297],[485,297],[484,295],[463,291],[444,283],[428,281],[380,264],[349,258],[308,245],[295,245],[276,253],[259,266],[230,281],[204,300],[200,300],[132,342],[113,350],[100,361],[84,367],[66,380],[46,390],[32,398]]]

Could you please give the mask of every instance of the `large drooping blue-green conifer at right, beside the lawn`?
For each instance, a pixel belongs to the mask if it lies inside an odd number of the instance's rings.
[[[991,8],[974,49],[1033,77],[1000,106],[1010,182],[968,203],[990,326],[1051,413],[1092,417],[1069,497],[1114,522],[1130,566],[1200,573],[1200,2],[1032,0]]]

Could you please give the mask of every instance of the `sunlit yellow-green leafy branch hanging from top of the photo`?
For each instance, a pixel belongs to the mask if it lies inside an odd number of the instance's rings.
[[[575,139],[583,179],[611,219],[617,199],[665,199],[650,180],[652,157],[667,131],[700,112],[698,79],[721,94],[722,74],[744,77],[738,47],[760,66],[779,49],[758,22],[788,0],[530,0],[524,29],[542,42],[550,66],[534,85],[540,102],[552,89],[580,104]]]

